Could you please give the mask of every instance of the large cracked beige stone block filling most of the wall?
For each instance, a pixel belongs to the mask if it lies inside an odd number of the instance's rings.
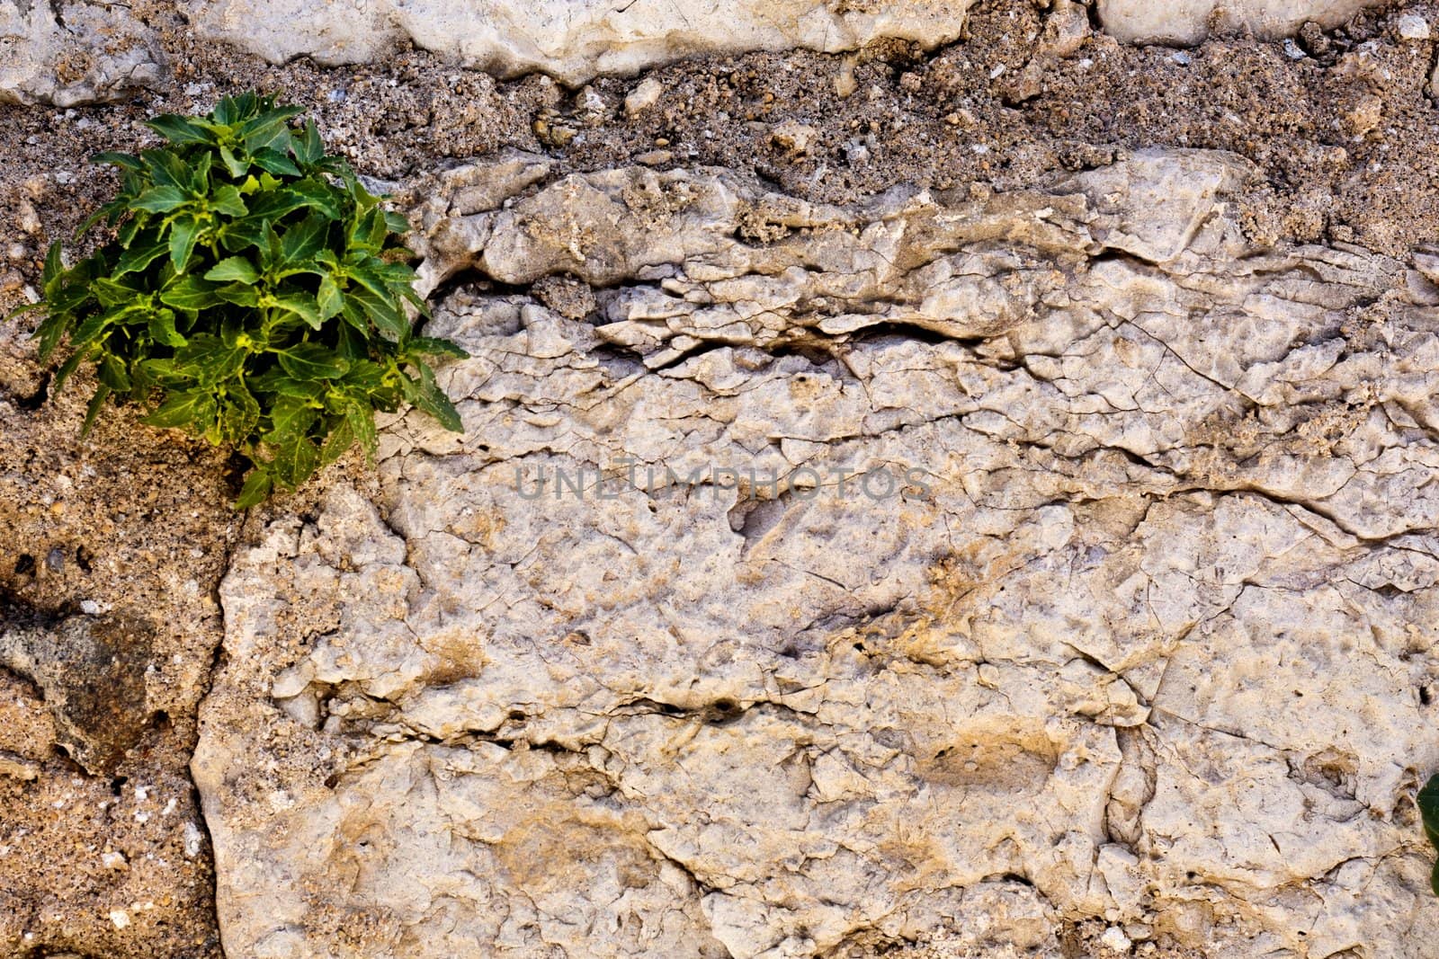
[[[235,559],[229,955],[1433,942],[1439,288],[1246,175],[416,184],[468,433]]]

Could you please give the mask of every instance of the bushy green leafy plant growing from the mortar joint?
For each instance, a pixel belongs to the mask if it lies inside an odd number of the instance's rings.
[[[465,357],[416,335],[404,217],[380,207],[324,151],[301,108],[273,96],[226,98],[206,116],[163,115],[168,144],[96,154],[121,170],[101,220],[115,229],[66,269],[50,246],[35,331],[40,358],[69,341],[58,391],[82,364],[98,370],[82,434],[105,400],[144,423],[229,443],[253,469],[236,508],[294,489],[357,441],[373,459],[374,410],[400,403],[460,430],[426,357]],[[53,393],[52,391],[52,393]]]

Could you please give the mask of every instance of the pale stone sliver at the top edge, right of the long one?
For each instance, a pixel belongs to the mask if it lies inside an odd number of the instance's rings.
[[[1387,0],[1097,0],[1099,22],[1127,43],[1199,43],[1210,33],[1246,30],[1262,37],[1298,33],[1305,23],[1334,27]]]

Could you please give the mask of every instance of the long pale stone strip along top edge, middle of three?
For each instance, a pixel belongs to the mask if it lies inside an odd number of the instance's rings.
[[[833,53],[886,37],[930,49],[960,36],[968,6],[968,0],[193,0],[187,9],[203,36],[275,63],[296,56],[364,63],[409,40],[495,73],[544,70],[578,83],[695,53],[793,47]]]

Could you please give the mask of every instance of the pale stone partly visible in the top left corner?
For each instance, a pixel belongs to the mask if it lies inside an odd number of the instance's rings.
[[[124,4],[0,0],[0,104],[96,104],[161,73],[154,36]]]

